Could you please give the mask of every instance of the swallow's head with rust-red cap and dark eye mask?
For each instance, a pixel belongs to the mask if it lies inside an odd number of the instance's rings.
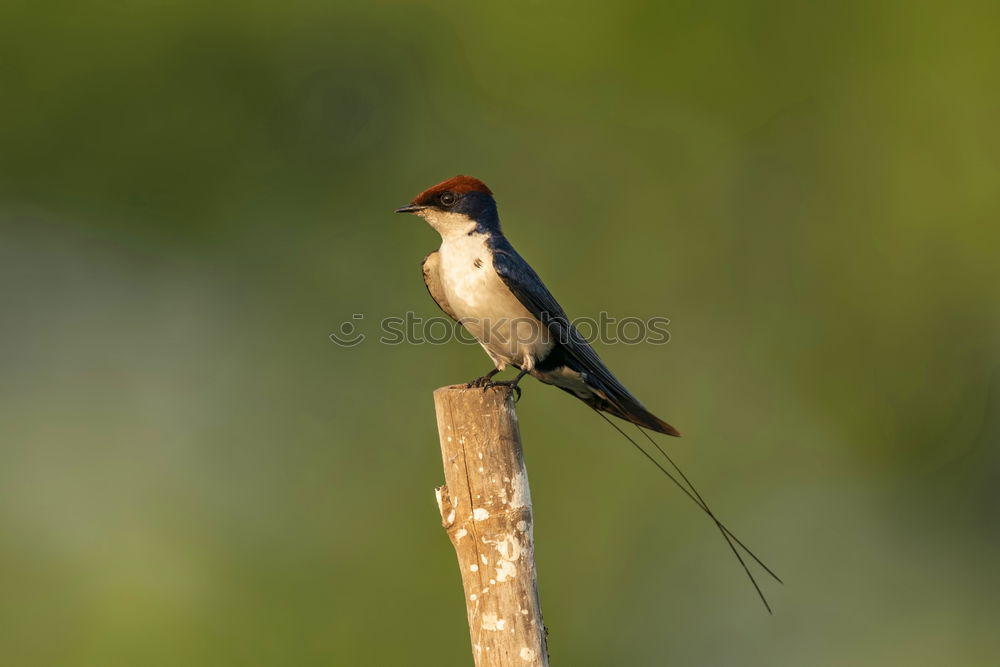
[[[493,193],[471,176],[455,176],[427,188],[396,213],[414,213],[442,238],[472,231],[499,232],[500,218]]]

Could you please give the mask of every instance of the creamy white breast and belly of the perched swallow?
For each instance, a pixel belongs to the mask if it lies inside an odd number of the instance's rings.
[[[531,370],[552,348],[548,331],[521,305],[493,268],[485,234],[461,234],[441,244],[441,285],[448,305],[498,368]]]

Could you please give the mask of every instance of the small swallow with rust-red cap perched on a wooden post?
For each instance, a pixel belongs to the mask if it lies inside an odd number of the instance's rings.
[[[680,436],[629,393],[572,325],[503,235],[493,193],[482,181],[455,176],[396,212],[420,216],[441,235],[441,247],[424,257],[427,291],[441,310],[468,329],[494,364],[469,386],[517,388],[530,374],[597,410]],[[517,378],[493,382],[507,366],[520,371]]]

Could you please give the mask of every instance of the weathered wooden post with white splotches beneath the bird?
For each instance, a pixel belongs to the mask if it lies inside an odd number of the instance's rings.
[[[438,508],[458,556],[477,667],[549,664],[512,393],[503,385],[434,392],[446,482]]]

